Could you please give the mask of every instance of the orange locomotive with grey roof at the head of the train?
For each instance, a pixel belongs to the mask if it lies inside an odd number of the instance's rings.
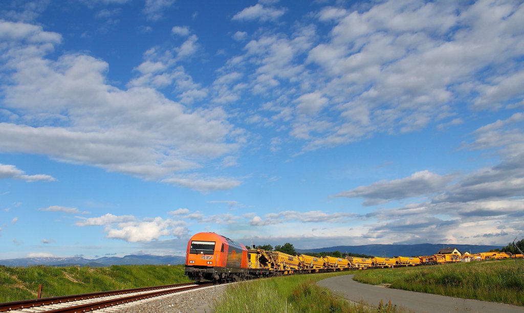
[[[248,274],[247,249],[214,232],[199,232],[188,242],[185,274],[192,280],[238,280]]]

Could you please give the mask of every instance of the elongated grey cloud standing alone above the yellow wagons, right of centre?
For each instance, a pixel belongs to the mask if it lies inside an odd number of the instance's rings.
[[[453,175],[421,171],[398,180],[380,181],[368,186],[359,186],[335,197],[365,198],[364,205],[376,205],[391,200],[420,197],[442,192],[452,180]]]

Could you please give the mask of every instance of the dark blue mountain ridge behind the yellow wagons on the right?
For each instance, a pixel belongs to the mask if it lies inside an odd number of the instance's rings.
[[[475,244],[364,244],[364,245],[337,245],[336,247],[320,249],[295,249],[298,253],[319,253],[340,251],[342,253],[357,253],[374,256],[413,256],[413,255],[432,255],[443,248],[457,248],[460,252],[487,252],[492,249],[502,248],[500,245],[475,245]]]

